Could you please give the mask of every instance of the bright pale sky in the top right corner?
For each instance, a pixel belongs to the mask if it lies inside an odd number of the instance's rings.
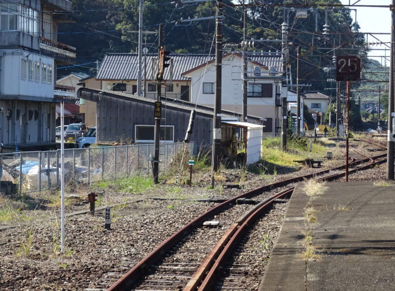
[[[343,5],[354,4],[356,5],[390,5],[391,0],[341,0]],[[389,8],[375,8],[375,7],[349,7],[350,9],[356,9],[357,11],[357,22],[360,25],[360,32],[391,32],[391,11]],[[355,20],[355,11],[351,12],[351,16]],[[374,35],[379,41],[389,42],[390,35]],[[365,36],[366,38],[366,36]],[[377,42],[373,36],[369,35],[367,38],[368,42]],[[390,44],[387,44],[390,46]],[[381,46],[371,46],[371,49],[384,49],[384,45]],[[378,60],[381,64],[384,62],[384,58],[375,56],[386,55],[389,59],[390,52],[387,50],[372,50],[369,52],[369,56],[372,59]],[[389,65],[387,61],[387,65]]]

